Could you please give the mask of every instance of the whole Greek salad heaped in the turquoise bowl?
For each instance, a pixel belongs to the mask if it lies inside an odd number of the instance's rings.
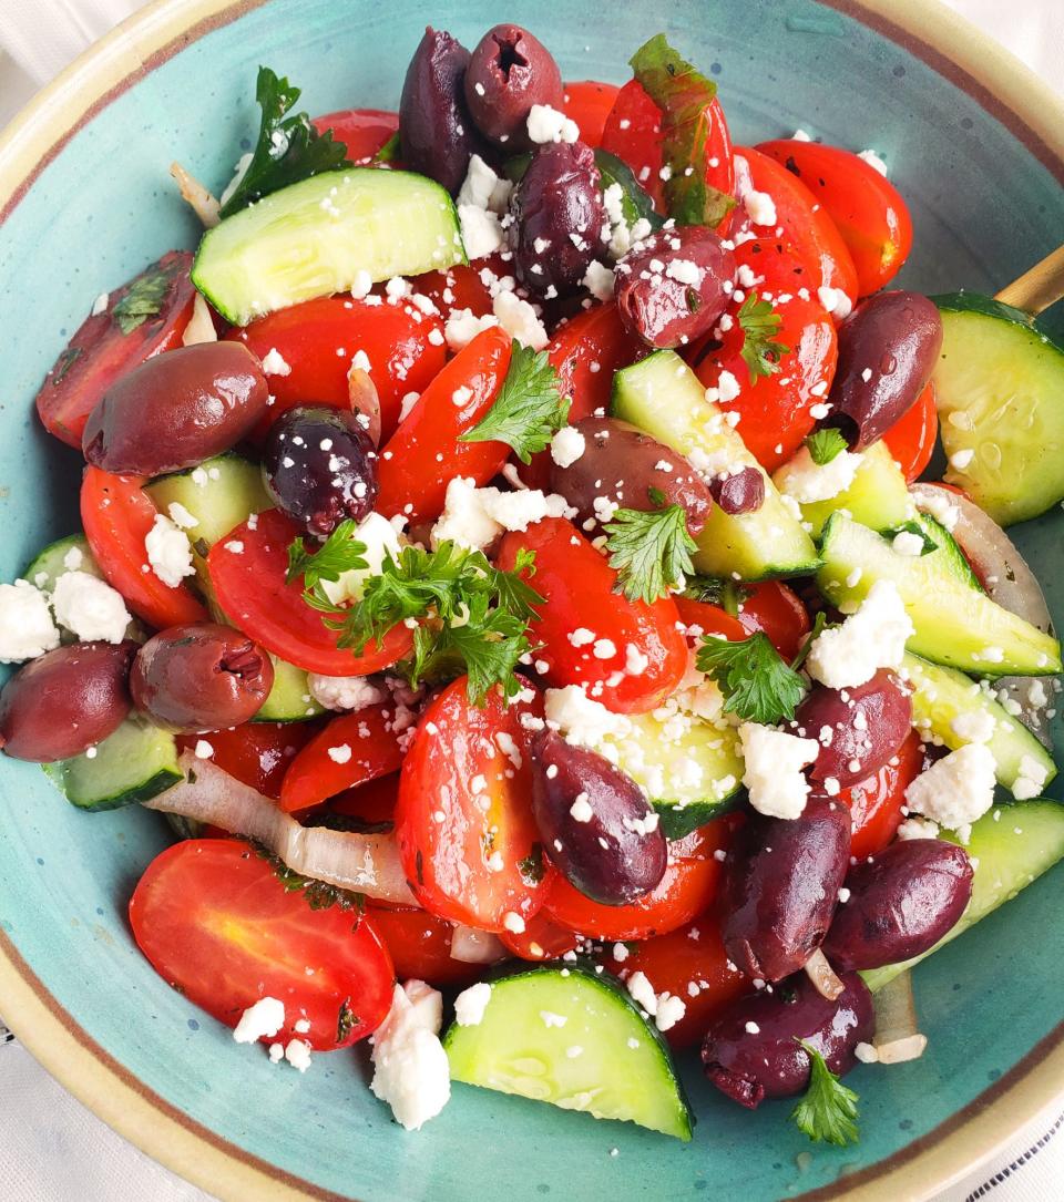
[[[0,585],[0,739],[166,816],[132,935],[278,1071],[365,1041],[408,1129],[462,1083],[689,1139],[697,1049],[844,1144],[911,966],[1064,856],[1003,529],[1064,496],[1064,351],[891,286],[874,150],[630,65],[428,29],[398,113],[314,119],[260,69],[228,186],[172,167],[195,254],[36,398],[82,530]]]

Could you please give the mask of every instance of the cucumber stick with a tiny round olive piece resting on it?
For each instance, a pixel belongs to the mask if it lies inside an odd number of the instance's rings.
[[[706,400],[697,376],[673,351],[655,351],[618,371],[611,411],[678,451],[700,471],[755,468],[765,478],[765,504],[755,513],[729,514],[713,506],[694,555],[705,576],[763,581],[808,576],[816,548],[801,522],[747,450],[723,410]]]

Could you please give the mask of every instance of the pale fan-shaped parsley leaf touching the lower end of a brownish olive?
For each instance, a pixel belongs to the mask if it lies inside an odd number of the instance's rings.
[[[604,529],[610,566],[618,573],[618,591],[629,601],[653,602],[667,596],[670,588],[682,585],[688,572],[695,570],[691,552],[696,545],[682,505],[618,510]]]

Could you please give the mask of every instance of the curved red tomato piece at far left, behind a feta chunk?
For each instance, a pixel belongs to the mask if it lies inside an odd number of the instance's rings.
[[[144,538],[159,511],[141,487],[139,476],[115,476],[85,468],[82,478],[82,525],[93,555],[108,584],[118,589],[138,617],[159,630],[186,621],[207,621],[207,611],[180,584],[172,589],[148,566]]]

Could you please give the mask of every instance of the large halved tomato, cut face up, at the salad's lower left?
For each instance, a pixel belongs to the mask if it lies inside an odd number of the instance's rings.
[[[371,922],[339,904],[311,909],[242,840],[167,847],[133,892],[130,923],[155,971],[220,1023],[236,1027],[261,998],[283,1001],[285,1025],[266,1042],[347,1047],[392,1004],[396,974]]]

